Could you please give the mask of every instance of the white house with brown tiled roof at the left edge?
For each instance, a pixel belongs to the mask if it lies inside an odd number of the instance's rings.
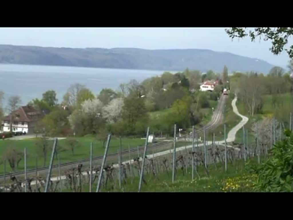
[[[38,122],[44,113],[38,111],[33,106],[21,106],[12,114],[12,132],[33,133],[36,122]],[[11,114],[4,117],[3,131],[10,131]]]

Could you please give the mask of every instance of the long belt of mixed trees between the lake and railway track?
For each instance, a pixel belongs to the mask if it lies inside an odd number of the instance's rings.
[[[164,72],[139,83],[131,80],[120,84],[119,89],[104,88],[98,95],[81,84],[71,85],[58,104],[56,92],[46,91],[42,99],[28,104],[46,113],[35,127],[35,132],[49,136],[98,134],[101,139],[108,132],[117,135],[140,135],[147,126],[158,133],[172,133],[173,125],[186,129],[205,117],[200,111],[210,108],[210,100],[218,100],[224,84],[215,92],[200,92],[200,84],[207,79],[228,79],[225,67],[222,74],[208,71],[190,71],[172,74]],[[13,107],[16,109],[18,103]],[[150,112],[167,114],[153,118]],[[11,111],[12,112],[12,109]]]

